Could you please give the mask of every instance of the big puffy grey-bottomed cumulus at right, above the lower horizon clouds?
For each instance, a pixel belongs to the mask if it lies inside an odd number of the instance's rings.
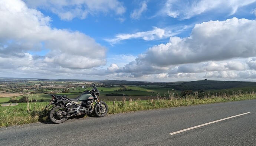
[[[168,66],[256,56],[255,27],[255,20],[237,18],[196,24],[190,37],[171,37],[137,60]]]

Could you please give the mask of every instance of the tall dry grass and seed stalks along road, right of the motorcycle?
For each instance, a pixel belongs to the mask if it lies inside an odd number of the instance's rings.
[[[227,93],[219,93],[219,94],[210,94],[207,91],[204,94],[204,97],[199,97],[197,92],[194,94],[186,95],[181,97],[174,90],[168,90],[168,96],[161,96],[157,94],[156,99],[148,99],[148,100],[132,100],[129,98],[129,101],[126,101],[123,98],[122,101],[119,102],[108,102],[109,106],[109,114],[120,113],[120,112],[132,112],[138,110],[150,110],[150,109],[161,109],[168,107],[177,107],[177,106],[188,106],[188,105],[197,105],[197,104],[208,104],[208,103],[219,103],[219,102],[229,102],[229,101],[239,101],[239,100],[250,100],[256,99],[256,95],[254,91],[251,92],[242,92],[239,90],[238,92],[232,92],[232,95]]]

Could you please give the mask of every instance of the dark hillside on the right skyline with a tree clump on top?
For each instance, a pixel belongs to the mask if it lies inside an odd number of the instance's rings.
[[[210,90],[210,89],[230,89],[256,86],[256,82],[239,82],[239,81],[215,81],[200,80],[184,82],[181,84],[167,84],[165,87],[172,87],[176,90]]]

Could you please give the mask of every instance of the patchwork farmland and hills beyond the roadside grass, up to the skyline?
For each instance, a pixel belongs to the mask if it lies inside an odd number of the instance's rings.
[[[37,100],[48,102],[51,96],[48,94],[65,95],[76,98],[84,90],[85,86],[91,90],[95,83],[100,92],[99,98],[105,101],[168,99],[169,96],[184,97],[188,94],[195,96],[210,96],[220,94],[252,93],[256,90],[256,82],[235,81],[192,81],[152,83],[139,81],[83,81],[83,80],[13,80],[12,82],[0,80],[0,103],[9,103],[11,98],[19,100],[24,93],[33,93]],[[16,93],[23,92],[23,93]],[[35,99],[35,97],[33,97]]]

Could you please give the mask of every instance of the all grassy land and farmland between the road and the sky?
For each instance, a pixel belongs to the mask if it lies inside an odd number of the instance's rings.
[[[0,79],[0,126],[47,121],[45,109],[52,97],[49,94],[79,96],[85,86],[96,84],[99,99],[106,101],[109,113],[149,110],[216,102],[256,99],[256,82],[192,81],[192,82],[136,82],[81,80],[8,80]],[[22,92],[22,93],[20,93]],[[5,97],[6,96],[6,97]],[[33,97],[27,106],[24,96]],[[36,100],[37,99],[37,100]],[[36,102],[35,102],[36,101]],[[1,106],[2,104],[15,103]]]

